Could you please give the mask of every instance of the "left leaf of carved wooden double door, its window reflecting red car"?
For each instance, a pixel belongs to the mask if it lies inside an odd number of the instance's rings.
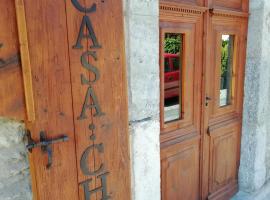
[[[203,10],[190,11],[160,4],[163,200],[199,199]]]

